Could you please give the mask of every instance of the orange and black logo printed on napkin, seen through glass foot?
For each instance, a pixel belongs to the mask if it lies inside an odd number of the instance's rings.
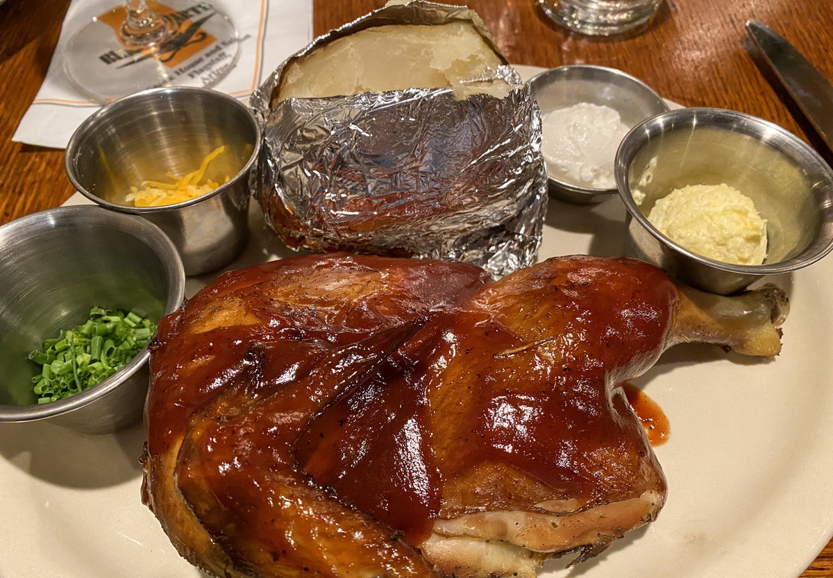
[[[168,22],[172,22],[177,29],[177,33],[159,47],[155,56],[157,62],[171,68],[177,75],[211,74],[212,71],[222,71],[222,68],[227,66],[226,61],[230,57],[226,52],[223,52],[221,44],[212,47],[217,42],[217,38],[202,27],[216,14],[209,2],[194,2],[192,7],[182,10],[182,12],[177,12],[172,7],[160,2],[153,2],[153,0],[147,1],[147,7],[166,18]],[[99,15],[97,20],[112,27],[113,32],[119,37],[126,12],[127,8],[124,5],[114,7],[112,10]],[[146,51],[132,49],[121,39],[119,39],[119,42],[124,46],[123,50],[104,52],[98,59],[105,65],[129,66],[136,62],[134,55],[137,52],[147,52],[148,54],[152,52],[149,49],[146,49]],[[127,60],[128,57],[130,57],[129,60]]]

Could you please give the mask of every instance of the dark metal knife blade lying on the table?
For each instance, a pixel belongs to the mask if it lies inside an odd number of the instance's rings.
[[[833,86],[807,58],[777,32],[755,20],[746,30],[770,63],[781,83],[795,99],[833,151]]]

